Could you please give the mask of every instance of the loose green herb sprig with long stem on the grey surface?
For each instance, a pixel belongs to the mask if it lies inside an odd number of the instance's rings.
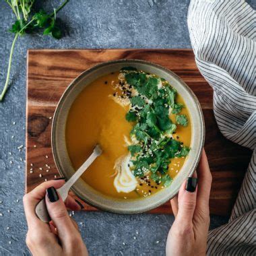
[[[11,59],[15,42],[18,37],[23,36],[24,34],[42,31],[44,35],[51,35],[56,39],[61,38],[63,35],[56,22],[56,14],[67,4],[68,1],[69,0],[65,0],[57,9],[53,9],[52,13],[46,13],[43,9],[40,9],[40,11],[36,13],[32,13],[34,0],[5,0],[5,2],[11,7],[17,20],[9,30],[9,32],[15,34],[15,36],[11,44],[5,86],[0,94],[0,101],[3,100],[5,93],[7,92],[9,74],[11,71]]]

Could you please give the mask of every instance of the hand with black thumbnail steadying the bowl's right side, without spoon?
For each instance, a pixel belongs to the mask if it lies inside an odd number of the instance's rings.
[[[175,221],[168,234],[166,255],[205,255],[211,184],[212,174],[203,150],[197,172],[183,183],[178,198],[170,201]]]

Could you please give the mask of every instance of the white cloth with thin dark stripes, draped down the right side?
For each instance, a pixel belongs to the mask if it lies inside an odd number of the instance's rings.
[[[228,224],[209,232],[207,255],[256,255],[256,13],[245,1],[191,0],[187,22],[220,131],[253,150]]]

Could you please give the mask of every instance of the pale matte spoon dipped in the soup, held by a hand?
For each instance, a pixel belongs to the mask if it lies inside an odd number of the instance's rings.
[[[73,176],[62,187],[57,189],[57,192],[59,193],[59,195],[61,196],[63,201],[65,201],[65,199],[67,198],[69,189],[73,186],[75,181],[77,181],[77,179],[79,179],[79,177],[84,173],[84,171],[101,154],[102,154],[102,149],[100,148],[100,145],[96,145],[96,147],[94,148],[94,152],[92,152],[92,154],[89,156],[89,158],[86,160],[86,162],[84,162],[84,164],[82,164],[82,166],[80,166],[80,168],[73,174]],[[47,208],[46,208],[45,199],[42,199],[38,203],[38,205],[36,205],[36,215],[43,222],[51,221],[51,217],[49,216]]]

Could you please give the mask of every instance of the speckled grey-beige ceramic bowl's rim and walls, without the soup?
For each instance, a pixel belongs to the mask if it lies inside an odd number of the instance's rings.
[[[102,75],[106,75],[113,71],[119,71],[122,67],[127,66],[136,67],[139,70],[163,77],[177,89],[183,100],[185,100],[192,122],[191,151],[189,152],[189,156],[187,157],[183,168],[179,174],[177,174],[177,177],[172,181],[172,185],[160,190],[158,193],[151,195],[150,197],[126,200],[113,199],[102,195],[102,193],[99,193],[90,187],[90,185],[85,183],[82,179],[79,179],[79,181],[73,185],[72,190],[78,197],[86,201],[86,203],[89,203],[99,209],[119,214],[136,214],[152,210],[174,197],[174,195],[178,193],[183,181],[193,174],[201,156],[205,137],[203,114],[195,94],[193,94],[191,89],[180,77],[160,65],[140,60],[123,59],[119,61],[109,61],[87,69],[84,73],[73,80],[59,101],[53,118],[52,147],[53,156],[59,172],[62,176],[69,179],[69,177],[71,177],[75,172],[71,165],[71,161],[69,160],[69,155],[67,154],[65,145],[65,125],[69,108],[73,104],[77,95],[82,92],[88,84]]]

